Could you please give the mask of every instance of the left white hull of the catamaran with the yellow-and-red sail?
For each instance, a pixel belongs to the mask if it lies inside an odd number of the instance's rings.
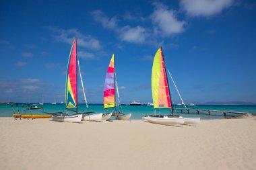
[[[158,117],[151,117],[151,116],[144,116],[142,117],[143,120],[147,120],[153,124],[163,124],[163,125],[177,125],[177,124],[184,124],[185,119],[183,117],[179,118],[168,118],[168,116],[164,116],[163,118]]]

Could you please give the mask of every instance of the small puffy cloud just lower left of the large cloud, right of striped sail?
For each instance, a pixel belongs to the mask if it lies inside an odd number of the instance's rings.
[[[125,42],[143,43],[146,40],[148,32],[145,28],[137,26],[135,28],[130,28],[126,26],[121,31],[121,40]]]

